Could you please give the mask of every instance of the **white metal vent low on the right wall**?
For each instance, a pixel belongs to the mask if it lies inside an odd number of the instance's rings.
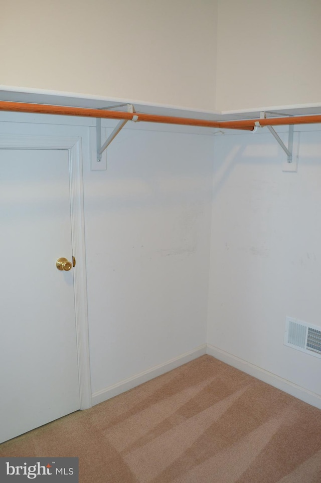
[[[321,357],[321,327],[286,317],[284,345],[311,356]]]

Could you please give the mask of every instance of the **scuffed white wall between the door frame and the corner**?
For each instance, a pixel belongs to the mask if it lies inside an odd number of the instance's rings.
[[[208,135],[123,130],[107,171],[85,167],[93,393],[206,342],[212,152]]]

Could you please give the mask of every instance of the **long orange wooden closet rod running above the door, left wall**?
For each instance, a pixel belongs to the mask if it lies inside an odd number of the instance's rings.
[[[0,111],[11,112],[33,112],[38,114],[57,114],[64,116],[80,116],[80,117],[100,117],[103,119],[128,119],[131,120],[137,116],[137,121],[142,122],[160,122],[163,124],[179,124],[185,126],[199,126],[199,127],[220,127],[219,121],[207,121],[203,119],[191,119],[187,117],[171,117],[171,116],[157,116],[154,114],[140,114],[137,112],[119,112],[102,109],[88,109],[84,107],[68,107],[68,106],[54,106],[45,104],[29,104],[25,102],[7,102],[0,101]],[[231,129],[234,129],[231,127]],[[239,129],[238,127],[236,129]],[[241,127],[244,130],[253,130],[251,127]]]

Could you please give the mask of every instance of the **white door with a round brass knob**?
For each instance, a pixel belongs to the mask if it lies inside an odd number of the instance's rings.
[[[0,149],[0,442],[80,408],[68,150]]]

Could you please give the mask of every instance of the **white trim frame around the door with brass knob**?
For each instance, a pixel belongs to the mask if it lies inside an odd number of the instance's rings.
[[[77,269],[74,270],[73,275],[80,409],[88,409],[92,406],[92,399],[88,337],[81,137],[34,136],[32,134],[0,135],[0,148],[68,150],[72,248],[76,256],[77,264]]]

